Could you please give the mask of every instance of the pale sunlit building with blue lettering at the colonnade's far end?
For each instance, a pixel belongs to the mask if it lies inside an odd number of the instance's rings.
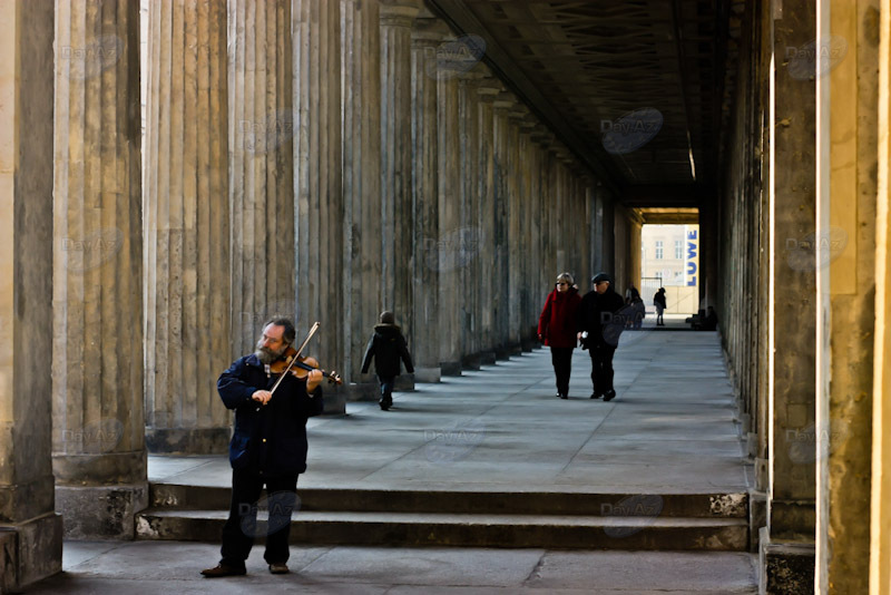
[[[665,287],[668,313],[696,313],[699,303],[699,226],[644,225],[640,232],[640,296]]]

